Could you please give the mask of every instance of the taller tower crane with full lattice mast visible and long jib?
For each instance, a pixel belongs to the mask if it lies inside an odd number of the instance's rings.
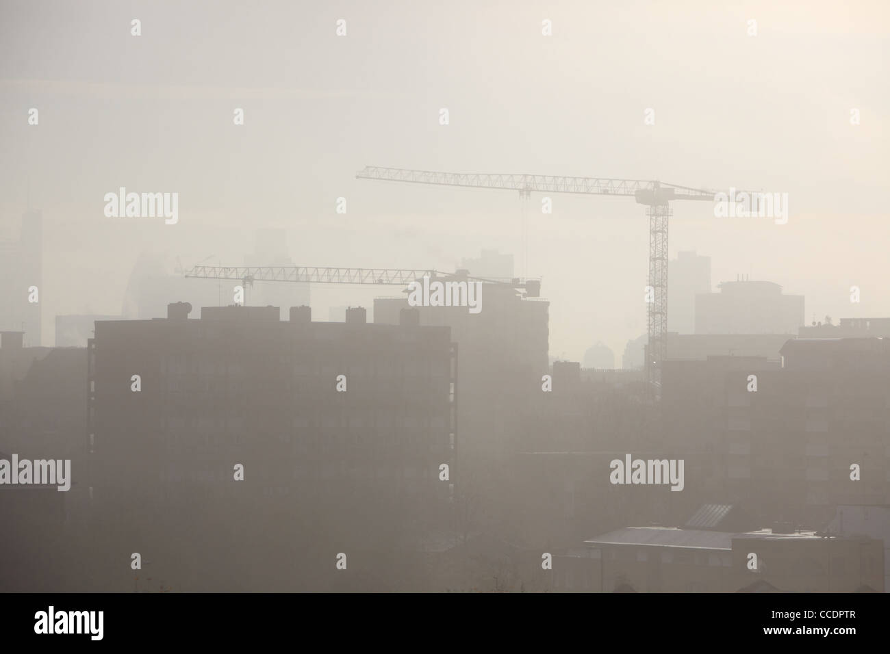
[[[649,356],[646,371],[654,398],[660,398],[661,363],[667,355],[667,219],[672,214],[672,200],[713,202],[716,191],[693,189],[657,180],[622,180],[603,177],[562,177],[534,174],[468,174],[441,173],[405,168],[366,166],[356,178],[388,182],[413,182],[473,189],[519,191],[520,198],[529,198],[532,191],[546,193],[578,193],[635,198],[647,207],[649,215],[649,286],[647,322]],[[754,195],[749,195],[755,198]]]

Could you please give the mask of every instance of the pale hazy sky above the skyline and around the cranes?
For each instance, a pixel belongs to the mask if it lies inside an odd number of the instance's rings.
[[[143,250],[171,271],[176,257],[241,265],[255,230],[286,228],[305,265],[453,270],[483,247],[515,254],[517,274],[543,277],[551,353],[578,360],[602,340],[620,365],[646,325],[648,222],[633,198],[554,195],[545,215],[534,194],[524,270],[518,194],[355,173],[659,179],[789,193],[786,225],[673,203],[671,256],[710,256],[715,285],[775,281],[805,295],[807,321],[890,315],[890,9],[773,4],[4,1],[0,238],[18,238],[29,189],[44,215],[44,344],[58,313],[118,313]],[[178,192],[178,224],[105,217],[120,186]],[[325,319],[393,291],[317,285],[312,303]]]

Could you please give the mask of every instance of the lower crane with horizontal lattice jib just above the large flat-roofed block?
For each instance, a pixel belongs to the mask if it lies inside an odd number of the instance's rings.
[[[466,279],[496,284],[521,290],[527,297],[538,297],[540,279],[482,279],[471,277],[466,270],[441,272],[419,268],[324,268],[320,266],[213,266],[196,265],[185,273],[186,277],[199,279],[237,279],[244,288],[247,304],[247,287],[255,281],[289,281],[304,284],[385,284],[407,286],[417,279]]]

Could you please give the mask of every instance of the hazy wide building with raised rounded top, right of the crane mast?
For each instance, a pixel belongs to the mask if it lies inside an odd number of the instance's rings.
[[[797,334],[804,324],[804,296],[783,295],[774,282],[739,279],[717,286],[720,293],[695,296],[696,334]]]

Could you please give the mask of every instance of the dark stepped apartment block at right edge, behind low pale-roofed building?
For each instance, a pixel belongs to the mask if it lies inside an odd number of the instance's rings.
[[[790,339],[781,367],[667,361],[666,438],[696,462],[684,494],[805,526],[823,524],[836,505],[890,502],[888,343]]]

